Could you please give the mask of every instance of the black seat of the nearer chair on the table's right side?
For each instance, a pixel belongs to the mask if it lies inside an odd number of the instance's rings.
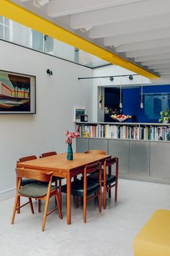
[[[97,182],[91,182],[87,181],[86,184],[86,195],[93,195],[94,192],[99,190],[99,183]],[[66,193],[67,192],[67,186],[63,185],[61,186],[61,191]],[[71,194],[77,195],[79,197],[84,196],[84,182],[77,179],[75,182],[71,182]]]

